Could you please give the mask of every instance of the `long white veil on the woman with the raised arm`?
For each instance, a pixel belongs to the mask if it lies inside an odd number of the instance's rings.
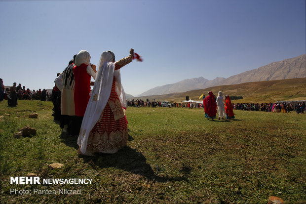
[[[84,114],[80,134],[77,138],[77,144],[81,146],[80,151],[83,154],[86,152],[89,133],[100,119],[102,111],[109,101],[114,76],[116,80],[115,90],[119,96],[121,106],[127,107],[125,92],[121,85],[120,70],[115,70],[113,60],[114,56],[111,52],[105,51],[101,54],[96,80]]]

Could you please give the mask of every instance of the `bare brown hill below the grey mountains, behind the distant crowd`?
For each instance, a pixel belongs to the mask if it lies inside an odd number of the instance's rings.
[[[205,89],[191,90],[180,93],[170,93],[164,95],[141,96],[134,99],[149,99],[160,101],[181,102],[189,96],[190,99],[199,100],[198,97],[203,93],[207,95],[208,91],[218,94],[223,91],[224,94],[242,96],[243,99],[235,102],[274,102],[276,100],[306,100],[306,78],[275,80],[264,82],[247,82],[232,85],[219,85]]]

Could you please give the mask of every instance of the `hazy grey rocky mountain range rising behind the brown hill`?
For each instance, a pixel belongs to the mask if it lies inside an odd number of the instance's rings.
[[[261,82],[306,77],[306,54],[272,62],[266,66],[246,71],[229,78],[217,77],[207,80],[203,77],[187,79],[180,82],[154,87],[139,96],[162,95],[168,93],[185,92],[218,85],[239,84],[245,82]],[[128,98],[128,97],[127,97]]]

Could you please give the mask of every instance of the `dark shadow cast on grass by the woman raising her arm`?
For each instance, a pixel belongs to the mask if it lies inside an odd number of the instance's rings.
[[[166,181],[187,181],[188,175],[184,177],[164,177],[155,175],[153,168],[147,163],[145,156],[128,146],[119,150],[115,154],[97,154],[93,157],[79,155],[85,163],[89,163],[93,168],[115,167],[139,174],[156,182]]]

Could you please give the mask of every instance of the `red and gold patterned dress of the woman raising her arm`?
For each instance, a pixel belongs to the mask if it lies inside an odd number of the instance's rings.
[[[115,70],[130,63],[132,57],[123,58],[115,63]],[[113,154],[127,143],[128,131],[125,110],[122,108],[115,91],[115,77],[113,79],[111,95],[99,121],[89,133],[86,153],[95,152]]]

